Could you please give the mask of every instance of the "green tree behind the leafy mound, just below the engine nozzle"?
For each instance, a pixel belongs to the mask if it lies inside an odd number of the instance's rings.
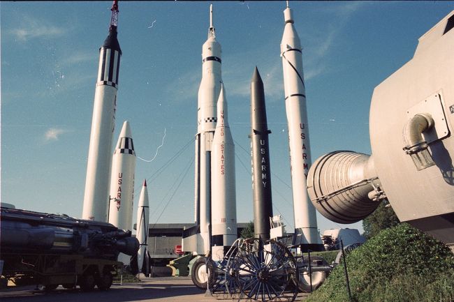
[[[379,234],[381,230],[395,227],[399,224],[400,220],[389,205],[389,202],[381,202],[374,213],[363,220],[364,236],[370,239]]]

